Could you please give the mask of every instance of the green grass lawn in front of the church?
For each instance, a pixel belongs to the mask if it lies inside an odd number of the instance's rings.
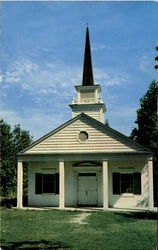
[[[94,212],[71,223],[78,214],[1,209],[2,249],[156,249],[156,214]]]

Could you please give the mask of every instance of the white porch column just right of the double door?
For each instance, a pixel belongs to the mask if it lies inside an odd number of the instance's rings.
[[[108,162],[103,161],[103,209],[108,208]]]

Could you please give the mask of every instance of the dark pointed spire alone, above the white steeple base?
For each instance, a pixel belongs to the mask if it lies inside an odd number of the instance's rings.
[[[86,43],[85,43],[82,85],[83,86],[94,85],[88,26],[86,29]]]

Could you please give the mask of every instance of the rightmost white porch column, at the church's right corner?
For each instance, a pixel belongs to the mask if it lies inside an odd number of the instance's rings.
[[[149,174],[149,209],[154,207],[154,194],[153,194],[153,161],[148,161],[148,174]]]

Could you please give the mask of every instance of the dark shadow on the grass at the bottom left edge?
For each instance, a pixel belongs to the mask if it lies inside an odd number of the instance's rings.
[[[62,242],[53,242],[53,241],[21,241],[21,242],[3,242],[1,244],[2,250],[29,250],[29,249],[38,249],[38,250],[63,250],[71,249],[70,246]]]

